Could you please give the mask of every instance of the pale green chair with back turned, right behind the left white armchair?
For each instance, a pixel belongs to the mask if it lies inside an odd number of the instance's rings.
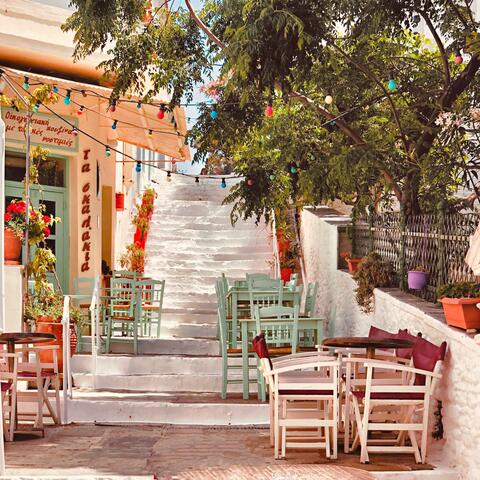
[[[254,318],[257,334],[263,333],[272,356],[296,353],[298,346],[298,307],[255,305]],[[258,360],[258,366],[260,360]],[[265,401],[265,379],[257,372],[260,400]]]

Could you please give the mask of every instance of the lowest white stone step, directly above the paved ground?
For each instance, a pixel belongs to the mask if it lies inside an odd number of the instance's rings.
[[[175,425],[266,425],[268,404],[242,401],[230,394],[125,393],[74,391],[68,421]]]

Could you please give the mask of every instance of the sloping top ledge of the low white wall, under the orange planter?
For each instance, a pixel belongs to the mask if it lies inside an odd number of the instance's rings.
[[[351,275],[345,270],[338,270],[341,275],[350,277],[352,283],[355,282]],[[450,327],[445,322],[443,309],[439,305],[432,304],[426,300],[403,292],[399,288],[376,288],[375,298],[384,297],[395,305],[398,310],[404,311],[416,317],[422,317],[422,320],[429,327],[438,331],[442,336],[462,343],[473,353],[480,353],[480,345],[474,340],[475,334],[468,334],[462,329]],[[373,314],[371,314],[373,316]]]

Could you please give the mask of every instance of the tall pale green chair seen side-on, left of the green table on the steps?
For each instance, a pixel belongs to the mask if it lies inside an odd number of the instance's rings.
[[[242,358],[242,349],[241,348],[232,348],[231,347],[231,335],[232,328],[231,322],[227,321],[227,310],[225,297],[226,292],[224,290],[224,283],[221,279],[216,281],[215,291],[217,294],[217,312],[218,312],[218,324],[219,324],[219,343],[220,343],[220,354],[222,356],[222,392],[221,397],[224,400],[227,398],[227,389],[229,384],[241,384],[243,383],[243,378],[229,378],[229,371],[237,371],[242,373],[243,365],[241,362],[231,363],[232,359],[241,359]],[[255,358],[254,350],[249,348],[248,350],[248,369],[256,370],[256,364],[250,364],[250,359]],[[250,383],[257,383],[256,378],[248,378],[248,385]],[[248,388],[248,386],[247,386]],[[260,396],[259,391],[259,396]]]

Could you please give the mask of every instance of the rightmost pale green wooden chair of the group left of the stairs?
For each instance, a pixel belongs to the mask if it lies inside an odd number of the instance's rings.
[[[141,290],[142,335],[151,337],[152,326],[154,326],[156,338],[160,338],[165,280],[138,280],[136,285]]]

